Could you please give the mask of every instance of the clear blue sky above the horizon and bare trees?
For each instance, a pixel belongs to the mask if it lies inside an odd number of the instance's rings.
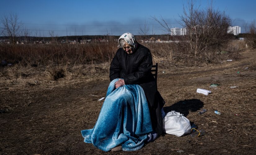
[[[146,24],[149,34],[166,34],[152,17],[161,16],[171,27],[180,27],[186,0],[1,0],[0,16],[17,13],[23,27],[31,36],[49,36],[54,31],[66,35],[121,35],[125,32],[139,34]],[[205,8],[209,1],[197,0],[196,6]],[[241,27],[256,18],[255,0],[213,0],[215,9],[225,11],[233,26]]]

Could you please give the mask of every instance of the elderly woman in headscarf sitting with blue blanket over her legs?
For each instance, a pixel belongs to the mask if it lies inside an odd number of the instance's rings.
[[[110,85],[93,129],[83,130],[84,142],[103,151],[134,151],[162,134],[165,104],[150,72],[150,50],[132,33],[120,36],[110,65]]]

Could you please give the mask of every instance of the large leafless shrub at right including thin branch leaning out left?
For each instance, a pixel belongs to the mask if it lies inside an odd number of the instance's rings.
[[[231,25],[229,16],[224,11],[214,10],[212,4],[206,9],[195,7],[191,0],[187,7],[183,7],[183,15],[180,18],[180,24],[186,28],[186,35],[183,38],[173,38],[173,44],[176,44],[173,51],[183,50],[183,55],[177,55],[176,58],[185,62],[194,61],[194,64],[211,63],[216,58],[216,52],[230,40],[227,34]],[[171,25],[166,20],[162,17],[153,19],[172,34]]]

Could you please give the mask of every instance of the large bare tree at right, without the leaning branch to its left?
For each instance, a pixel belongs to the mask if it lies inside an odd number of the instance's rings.
[[[189,49],[195,58],[218,49],[228,40],[227,30],[231,19],[225,15],[225,11],[214,10],[212,2],[208,8],[200,10],[191,0],[187,8],[183,7],[183,13],[180,16],[184,23],[182,26],[186,28]]]

